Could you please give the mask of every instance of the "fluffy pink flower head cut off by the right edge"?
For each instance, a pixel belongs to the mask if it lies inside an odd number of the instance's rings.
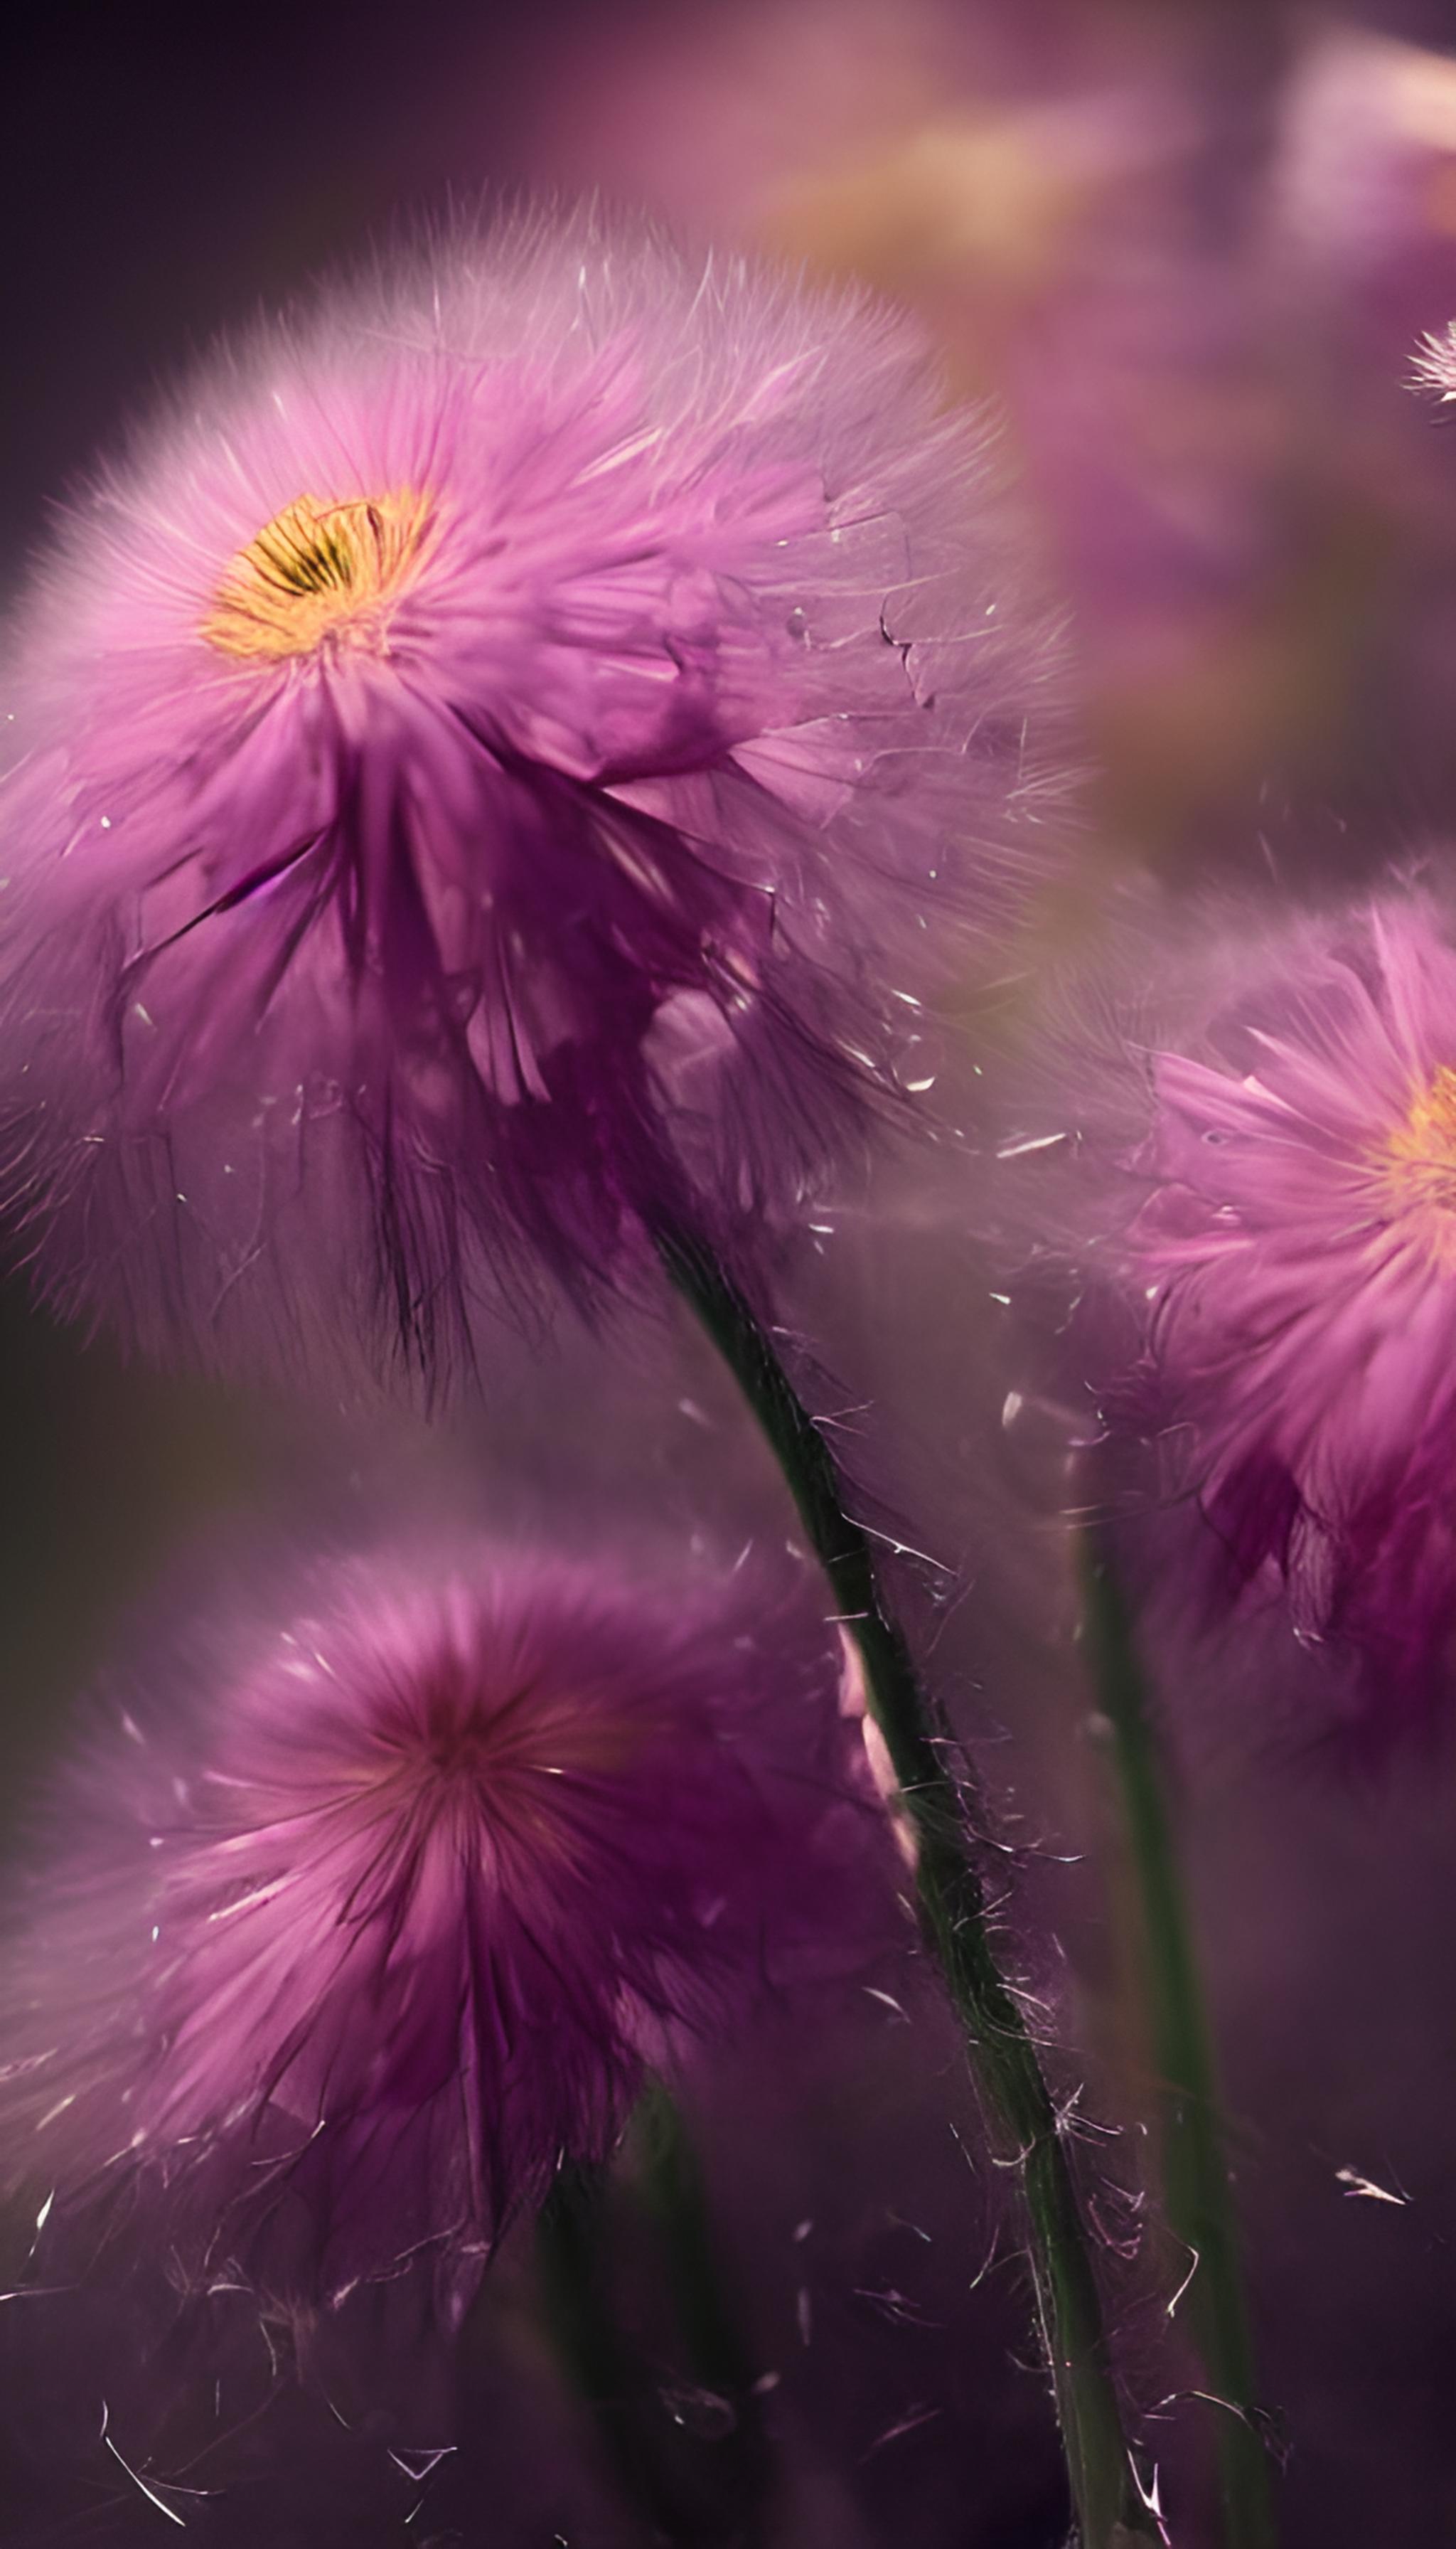
[[[1311,925],[1209,1050],[1153,1065],[1140,1422],[1219,1596],[1410,1710],[1456,1659],[1456,951],[1415,900]]]

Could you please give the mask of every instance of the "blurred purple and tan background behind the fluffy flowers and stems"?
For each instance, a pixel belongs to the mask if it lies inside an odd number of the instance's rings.
[[[1446,54],[1441,48],[1448,48]],[[913,301],[994,398],[1086,716],[1076,885],[949,1073],[1015,1048],[1038,966],[1132,890],[1326,895],[1456,856],[1456,428],[1405,380],[1456,316],[1448,0],[293,0],[28,10],[0,161],[0,584],[117,421],[212,336],[421,217],[520,191],[648,201]],[[969,1081],[966,1081],[969,1083]],[[987,1101],[989,1104],[989,1101]],[[989,1116],[987,1116],[989,1127]],[[1007,1922],[1076,2044],[1130,2391],[1178,2541],[1214,2411],[1170,2396],[1168,2258],[1137,2215],[1145,2077],[1058,1466],[1005,1425],[994,1132],[834,1198],[785,1269],[852,1461],[926,1552],[959,1723],[1000,1800]],[[1035,1415],[1035,1410],[1033,1410]],[[102,1659],[229,1534],[349,1532],[380,1494],[586,1527],[617,1496],[724,1545],[783,1532],[745,1420],[676,1333],[564,1336],[472,1425],[232,1397],[0,1297],[0,1792],[10,1830]],[[1456,2541],[1456,1761],[1380,1784],[1247,1715],[1188,1728],[1181,1817],[1219,2016],[1288,2549]],[[954,2047],[890,2001],[704,2054],[724,2256],[773,2378],[783,2541],[1053,2549],[1053,2437]],[[0,2047],[3,2060],[3,2047]],[[10,2225],[23,2261],[23,2225]],[[10,2258],[10,2251],[8,2251]],[[5,2274],[10,2276],[13,2261]],[[650,2299],[643,2299],[650,2320]],[[0,2299],[0,2539],[569,2541],[630,2549],[513,2253],[449,2371],[227,2411],[127,2330]],[[711,2444],[663,2337],[663,2414]],[[102,2442],[158,2483],[148,2495]],[[426,2467],[444,2442],[454,2450]],[[199,2490],[199,2493],[186,2493]]]

